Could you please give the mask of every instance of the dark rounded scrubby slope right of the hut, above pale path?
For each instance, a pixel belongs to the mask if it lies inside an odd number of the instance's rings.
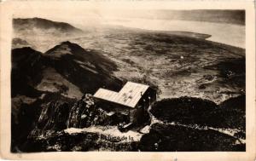
[[[245,132],[245,95],[230,98],[219,106],[212,101],[180,97],[157,101],[152,114],[167,123],[239,129]]]

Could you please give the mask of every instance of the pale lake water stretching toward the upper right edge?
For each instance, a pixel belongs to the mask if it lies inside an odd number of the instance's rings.
[[[197,37],[245,49],[245,26],[193,20],[146,20],[108,22],[108,25],[124,26],[153,32],[173,33],[180,36]],[[147,25],[145,25],[147,24]]]

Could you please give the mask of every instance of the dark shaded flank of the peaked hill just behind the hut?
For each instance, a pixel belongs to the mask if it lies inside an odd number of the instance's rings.
[[[61,77],[79,87],[83,93],[93,94],[100,87],[121,88],[121,81],[112,76],[116,70],[115,63],[99,51],[85,50],[75,43],[64,42],[49,49],[45,56]]]

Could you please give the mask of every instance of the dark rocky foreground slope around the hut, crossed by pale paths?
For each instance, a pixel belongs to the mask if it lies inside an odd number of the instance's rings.
[[[102,110],[102,104],[91,95],[73,103],[58,99],[42,106],[26,141],[19,142],[13,151],[242,152],[245,151],[244,112],[242,116],[234,115],[237,108],[230,102],[241,105],[243,101],[242,95],[225,101],[224,109],[197,98],[159,101],[151,111],[160,120],[154,119],[148,131],[142,126],[141,132],[131,129],[123,133],[117,125],[125,121],[125,116]],[[238,118],[227,117],[230,113]]]

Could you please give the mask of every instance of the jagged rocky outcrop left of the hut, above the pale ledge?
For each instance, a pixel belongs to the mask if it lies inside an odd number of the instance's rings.
[[[106,112],[97,106],[92,95],[86,94],[79,101],[50,101],[43,106],[37,126],[32,135],[47,130],[61,131],[67,128],[87,128],[92,125],[117,125],[124,122],[120,113]]]

